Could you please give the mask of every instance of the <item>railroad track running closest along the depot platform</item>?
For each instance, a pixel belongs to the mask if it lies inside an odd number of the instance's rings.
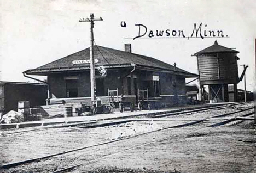
[[[195,113],[195,112],[201,112],[201,111],[205,111],[205,110],[218,109],[218,108],[222,108],[222,107],[237,106],[237,105],[242,105],[242,104],[247,104],[247,103],[250,103],[250,102],[231,103],[231,104],[225,104],[225,105],[222,105],[222,106],[213,106],[213,107],[207,107],[207,108],[195,108],[195,109],[190,108],[189,110],[180,109],[180,110],[174,110],[171,113],[160,112],[160,113],[148,114],[148,115],[134,115],[134,116],[130,116],[130,118],[131,117],[139,118],[141,116],[146,116],[148,118],[161,118],[161,117],[165,117],[165,116]],[[127,118],[126,117],[120,117],[120,118],[117,118],[117,119],[127,119]],[[43,131],[43,130],[50,129],[50,128],[69,127],[68,130],[72,130],[72,129],[77,129],[77,128],[95,128],[95,127],[103,127],[103,126],[112,126],[112,125],[119,124],[119,123],[129,122],[129,121],[125,120],[125,121],[116,121],[116,122],[108,122],[108,123],[98,123],[98,121],[104,121],[104,120],[108,120],[108,119],[102,119],[102,120],[97,120],[97,121],[86,121],[86,122],[80,122],[80,123],[68,123],[66,125],[54,125],[54,126],[49,126],[49,127],[39,127],[39,128],[33,128],[33,129],[26,129],[26,130],[23,130],[23,131],[2,133],[2,136],[6,136],[6,135],[10,135],[10,134],[18,134],[18,133],[27,133],[27,132],[33,132],[33,131]]]

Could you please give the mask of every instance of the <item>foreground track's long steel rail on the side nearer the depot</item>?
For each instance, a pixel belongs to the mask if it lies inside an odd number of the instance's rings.
[[[63,154],[70,153],[70,152],[74,152],[74,151],[78,151],[78,150],[88,149],[88,148],[90,148],[90,147],[95,147],[95,146],[100,146],[100,145],[106,145],[106,144],[114,143],[114,142],[117,142],[117,141],[120,141],[120,140],[135,138],[135,137],[138,137],[138,136],[141,136],[141,135],[144,135],[144,134],[149,134],[149,133],[153,133],[153,132],[163,131],[163,130],[170,129],[170,128],[180,128],[180,127],[185,127],[185,126],[191,126],[191,125],[195,125],[195,124],[197,124],[197,123],[201,123],[201,122],[203,122],[203,121],[205,121],[205,120],[208,120],[208,119],[211,119],[211,118],[217,118],[217,117],[220,117],[220,116],[226,116],[226,115],[230,115],[230,114],[236,114],[236,113],[244,112],[244,111],[246,111],[246,110],[253,109],[253,108],[254,108],[254,107],[246,108],[246,109],[243,109],[243,110],[238,110],[237,112],[214,115],[214,116],[210,116],[210,117],[208,117],[208,118],[204,118],[204,119],[201,119],[201,120],[197,120],[197,121],[193,121],[193,122],[189,122],[189,123],[183,123],[183,124],[181,124],[181,125],[175,125],[175,126],[165,127],[165,128],[161,128],[161,129],[156,129],[156,130],[154,130],[154,131],[149,131],[149,132],[145,132],[145,133],[141,133],[141,134],[136,134],[136,135],[132,135],[132,136],[125,137],[125,138],[110,140],[110,141],[106,141],[106,142],[99,143],[99,144],[95,144],[95,145],[89,145],[89,146],[85,146],[85,147],[80,147],[80,148],[77,148],[77,149],[68,150],[68,151],[64,151],[64,152],[60,152],[60,153],[54,153],[54,154],[46,155],[46,156],[43,156],[43,157],[37,157],[37,158],[22,160],[22,161],[20,161],[20,162],[14,162],[14,163],[9,163],[9,164],[4,164],[4,165],[2,165],[2,168],[7,169],[7,168],[11,168],[11,167],[18,166],[18,165],[21,165],[21,164],[34,162],[34,161],[36,161],[36,160],[45,159],[45,158],[49,158],[49,157],[53,157],[53,156],[59,156],[59,155],[63,155]],[[254,113],[254,112],[253,112],[253,113]],[[95,125],[93,125],[93,126],[95,126]]]

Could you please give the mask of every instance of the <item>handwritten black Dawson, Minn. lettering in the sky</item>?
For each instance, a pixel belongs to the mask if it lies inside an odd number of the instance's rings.
[[[223,30],[211,30],[207,29],[207,24],[202,27],[202,23],[196,25],[194,23],[193,30],[189,35],[186,35],[184,30],[148,30],[143,24],[135,24],[138,28],[138,35],[133,40],[138,38],[228,38],[228,35],[224,36]]]

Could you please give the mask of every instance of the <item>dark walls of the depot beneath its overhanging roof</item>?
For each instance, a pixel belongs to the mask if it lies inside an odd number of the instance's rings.
[[[135,95],[138,89],[146,90],[146,88],[148,88],[147,81],[153,80],[152,76],[154,73],[154,75],[159,76],[159,97],[163,97],[165,102],[173,102],[175,99],[178,100],[179,97],[182,97],[184,100],[186,94],[185,77],[173,75],[171,73],[157,73],[144,70],[136,70],[129,73],[131,70],[132,69],[109,70],[106,77],[96,76],[97,96],[108,96],[108,89],[118,89],[119,96]],[[98,78],[103,78],[103,86],[102,84],[97,83]],[[67,79],[77,79],[78,98],[77,100],[73,99],[73,101],[79,102],[79,97],[90,97],[90,72],[88,71],[48,75],[51,98],[63,98],[64,100],[67,98]],[[136,88],[134,87],[135,81]],[[99,89],[100,92],[98,91]]]

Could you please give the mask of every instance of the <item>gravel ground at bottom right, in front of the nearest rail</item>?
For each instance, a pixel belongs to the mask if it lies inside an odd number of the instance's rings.
[[[135,172],[254,172],[255,138],[253,123],[204,128],[179,138],[140,147],[83,165],[73,172],[134,169]],[[100,166],[101,165],[101,166]]]

